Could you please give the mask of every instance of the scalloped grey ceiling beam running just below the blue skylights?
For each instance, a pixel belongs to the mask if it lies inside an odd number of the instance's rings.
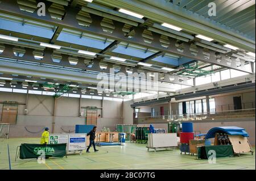
[[[76,65],[72,65],[69,63],[69,56],[68,54],[64,54],[61,53],[61,61],[60,62],[54,62],[52,60],[52,54],[53,54],[53,49],[51,48],[46,48],[44,50],[44,56],[42,58],[42,60],[36,60],[34,57],[34,50],[32,48],[24,48],[26,50],[26,52],[24,53],[24,55],[22,57],[19,56],[15,56],[14,54],[14,45],[9,45],[9,44],[4,44],[5,45],[5,49],[3,50],[3,52],[0,54],[0,57],[6,57],[6,58],[12,58],[14,60],[24,60],[24,61],[30,61],[30,62],[36,62],[39,64],[47,64],[47,65],[55,65],[55,66],[62,66],[63,68],[75,68],[75,69],[81,69],[84,71],[96,71],[98,73],[110,73],[110,69],[114,68],[113,63],[111,62],[104,62],[104,64],[107,64],[107,68],[106,69],[101,69],[100,68],[100,62],[101,59],[99,58],[94,58],[89,65],[85,65],[84,60],[86,58],[84,57],[77,57],[78,58],[78,62]],[[128,73],[126,71],[127,68],[131,68],[130,66],[125,66],[125,65],[118,65],[120,70],[120,73],[123,73],[126,75],[126,77],[128,77]],[[138,66],[136,68],[132,68],[133,69],[133,73],[139,73],[139,72],[144,72],[146,75],[147,73],[158,73],[157,71],[154,70],[144,70],[141,69],[142,66]],[[1,69],[0,69],[1,71]],[[187,86],[194,86],[193,83],[189,82],[188,80],[191,78],[187,78],[187,77],[180,77],[179,75],[171,75],[169,73],[159,73],[158,76],[158,81],[160,82],[167,82],[167,83],[177,83],[180,85],[187,85]]]

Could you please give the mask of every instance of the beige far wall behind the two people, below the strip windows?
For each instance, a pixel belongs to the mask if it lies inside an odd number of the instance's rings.
[[[24,104],[26,103],[26,94],[0,92],[0,102],[3,101],[16,101]],[[79,117],[79,101],[79,98],[62,97],[57,99],[55,117],[53,117],[53,96],[28,94],[28,114],[24,115],[24,105],[18,106],[17,121],[15,125],[11,125],[10,137],[39,137],[44,127],[49,127],[52,131],[53,120],[55,121],[55,133],[74,131],[76,124],[85,124],[85,117]],[[87,106],[102,108],[102,100],[81,99],[81,107]],[[0,115],[1,112],[2,104],[0,104]],[[115,124],[123,123],[122,102],[103,100],[102,116],[97,120],[98,131],[103,127],[115,131]],[[132,117],[133,113],[127,112],[127,116]],[[126,120],[133,121],[133,119]]]

